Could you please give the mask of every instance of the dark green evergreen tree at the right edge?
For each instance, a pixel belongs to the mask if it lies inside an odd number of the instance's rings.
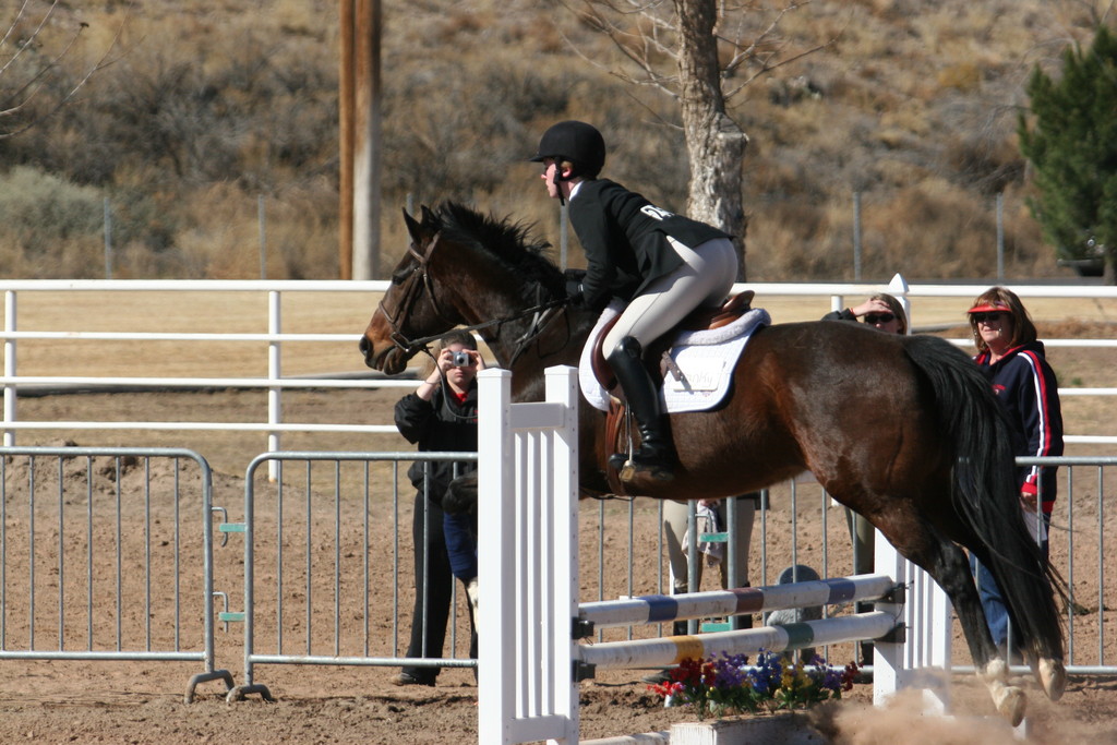
[[[1117,38],[1100,26],[1088,51],[1062,55],[1062,77],[1035,67],[1028,84],[1031,121],[1020,116],[1020,150],[1034,168],[1029,202],[1044,238],[1063,258],[1117,265]],[[1031,126],[1029,126],[1031,124]]]

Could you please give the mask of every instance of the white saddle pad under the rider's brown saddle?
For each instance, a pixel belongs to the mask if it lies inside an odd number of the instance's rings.
[[[590,355],[605,325],[624,309],[610,303],[602,311],[590,337],[582,347],[577,367],[582,395],[593,408],[609,411],[609,393],[593,375]],[[705,411],[722,402],[733,381],[733,370],[754,331],[772,323],[764,308],[753,308],[732,324],[710,331],[682,332],[671,343],[670,355],[682,373],[676,380],[668,373],[661,391],[667,411]]]

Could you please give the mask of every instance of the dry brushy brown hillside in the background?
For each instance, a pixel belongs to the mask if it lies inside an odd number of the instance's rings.
[[[31,3],[4,60],[47,4]],[[822,48],[732,102],[751,137],[750,279],[852,279],[855,193],[866,280],[995,276],[997,194],[1006,275],[1066,274],[1024,206],[1016,116],[1033,66],[1057,70],[1107,4],[814,0],[785,15],[771,44],[789,57]],[[0,10],[0,29],[16,10]],[[383,18],[382,266],[404,249],[409,198],[466,201],[557,242],[556,206],[524,159],[561,118],[602,128],[607,175],[685,209],[675,103],[617,75],[622,56],[572,10],[384,0]],[[737,20],[758,34],[771,18]],[[78,22],[78,45],[21,115],[48,111],[106,50],[112,64],[47,122],[0,139],[0,276],[104,276],[106,199],[117,277],[258,277],[261,203],[268,277],[337,276],[336,3],[59,7],[0,94]]]

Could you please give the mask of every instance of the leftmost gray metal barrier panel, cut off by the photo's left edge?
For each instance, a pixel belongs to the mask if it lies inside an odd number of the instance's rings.
[[[211,514],[190,450],[0,448],[0,659],[199,661],[188,703],[200,682],[231,688]]]

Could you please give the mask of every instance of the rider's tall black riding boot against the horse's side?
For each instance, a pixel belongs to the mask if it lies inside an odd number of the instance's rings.
[[[617,453],[609,462],[620,471],[622,481],[631,481],[637,476],[669,481],[675,478],[678,458],[671,442],[670,423],[659,401],[659,391],[643,366],[641,354],[640,342],[626,336],[609,355],[609,364],[640,430],[640,448],[632,457]]]

